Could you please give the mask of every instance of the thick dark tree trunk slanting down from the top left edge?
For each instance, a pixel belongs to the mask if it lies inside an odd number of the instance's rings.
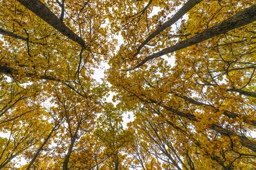
[[[70,40],[77,42],[79,45],[84,46],[84,40],[76,35],[70,28],[68,28],[62,20],[52,13],[47,6],[40,0],[17,0],[23,6],[35,13],[38,17],[47,22],[50,26],[57,29],[61,34],[68,37]]]

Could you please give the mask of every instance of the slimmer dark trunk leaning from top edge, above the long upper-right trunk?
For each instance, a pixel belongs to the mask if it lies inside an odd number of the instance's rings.
[[[150,40],[152,40],[154,37],[157,36],[157,34],[159,34],[160,32],[162,32],[163,30],[165,30],[166,28],[172,26],[174,23],[177,22],[177,20],[179,20],[184,14],[186,14],[191,8],[193,8],[194,6],[196,6],[198,3],[200,3],[202,0],[189,0],[188,2],[186,2],[179,11],[177,11],[176,14],[173,15],[173,17],[166,21],[165,23],[162,24],[162,26],[158,27],[156,29],[156,31],[154,31],[152,34],[150,34],[146,40],[137,48],[137,53],[134,54],[134,57],[137,56],[141,50],[141,48],[143,48],[144,45],[146,45]]]

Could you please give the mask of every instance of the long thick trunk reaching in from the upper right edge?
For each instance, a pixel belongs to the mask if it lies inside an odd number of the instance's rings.
[[[256,5],[251,6],[250,8],[246,8],[244,11],[238,12],[234,16],[228,18],[227,20],[224,20],[221,23],[218,23],[215,26],[212,26],[211,28],[204,30],[203,32],[195,35],[194,37],[178,42],[175,45],[172,45],[161,51],[158,51],[157,53],[147,56],[138,65],[136,65],[134,68],[131,68],[130,70],[139,68],[140,66],[145,64],[145,62],[151,59],[154,59],[169,53],[173,53],[180,49],[189,47],[191,45],[195,45],[199,42],[208,40],[209,38],[215,37],[220,34],[224,34],[232,29],[245,26],[249,23],[252,23],[255,20],[256,20]]]

